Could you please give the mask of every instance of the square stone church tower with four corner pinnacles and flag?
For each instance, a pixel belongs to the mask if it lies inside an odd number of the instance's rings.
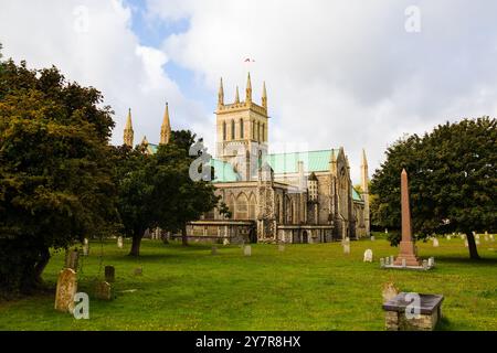
[[[221,78],[218,94],[216,158],[230,162],[245,181],[254,180],[261,161],[267,154],[268,116],[267,93],[263,84],[262,104],[252,100],[252,82],[248,73],[245,100],[240,101],[236,87],[235,101],[224,104]]]

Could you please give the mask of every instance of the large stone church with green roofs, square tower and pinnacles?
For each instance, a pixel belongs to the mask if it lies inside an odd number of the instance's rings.
[[[189,235],[230,242],[326,243],[370,235],[368,162],[362,151],[361,191],[350,179],[350,164],[342,147],[318,151],[269,153],[269,119],[265,83],[262,101],[252,99],[248,74],[245,99],[236,87],[234,103],[224,101],[221,79],[216,115],[214,168],[215,193],[232,215],[218,210],[192,222]],[[160,143],[170,137],[169,108]],[[130,111],[125,143],[133,146]],[[147,150],[156,145],[144,138]]]

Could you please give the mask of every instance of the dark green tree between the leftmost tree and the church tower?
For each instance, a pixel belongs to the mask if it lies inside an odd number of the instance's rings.
[[[187,245],[187,223],[216,206],[213,185],[189,175],[193,142],[194,135],[181,130],[172,131],[170,142],[159,146],[155,154],[142,146],[117,149],[118,208],[125,233],[133,238],[129,255],[139,256],[145,232],[155,227],[181,231]]]

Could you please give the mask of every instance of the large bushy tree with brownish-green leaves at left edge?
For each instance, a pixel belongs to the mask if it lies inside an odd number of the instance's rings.
[[[107,234],[117,220],[112,111],[55,68],[0,62],[0,288],[41,284],[50,248]]]

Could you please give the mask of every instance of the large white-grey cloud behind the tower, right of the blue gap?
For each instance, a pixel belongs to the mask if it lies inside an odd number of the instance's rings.
[[[421,32],[405,31],[405,9],[421,10]],[[246,56],[254,93],[265,79],[271,141],[311,149],[343,146],[358,180],[388,143],[446,119],[496,115],[497,4],[489,1],[148,0],[149,15],[189,19],[163,51],[204,78],[215,98],[242,93]],[[213,133],[213,119],[210,120]],[[207,128],[205,128],[207,130]]]

